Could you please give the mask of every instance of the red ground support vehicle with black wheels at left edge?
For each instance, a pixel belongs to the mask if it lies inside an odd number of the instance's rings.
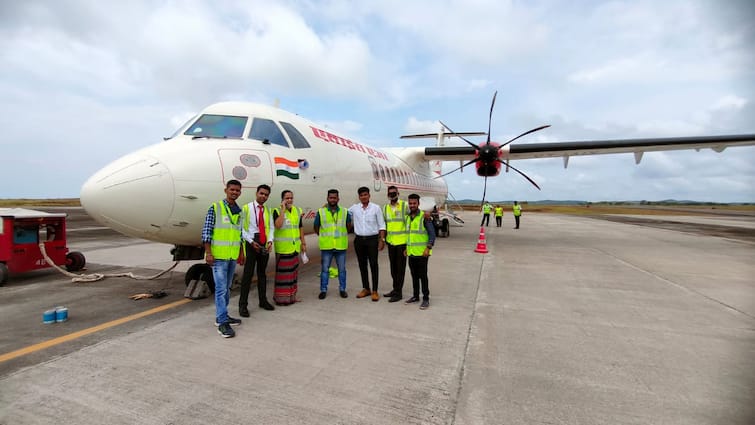
[[[45,251],[56,265],[69,271],[84,268],[84,254],[68,252],[65,214],[0,208],[0,219],[0,285],[11,273],[50,267],[39,249],[40,241],[44,241]]]

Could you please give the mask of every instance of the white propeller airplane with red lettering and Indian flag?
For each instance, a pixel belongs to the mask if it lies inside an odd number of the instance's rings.
[[[491,118],[492,111],[493,105]],[[373,201],[382,204],[390,185],[403,196],[419,194],[423,210],[442,206],[448,195],[441,174],[445,160],[475,164],[487,183],[487,177],[498,175],[502,166],[524,175],[509,160],[563,157],[566,165],[574,155],[631,152],[639,163],[646,151],[712,148],[720,152],[728,146],[755,144],[755,134],[510,144],[512,139],[497,144],[490,141],[490,123],[488,133],[453,133],[445,128],[437,134],[407,136],[435,137],[436,146],[375,148],[276,107],[217,103],[172,137],[99,170],[84,183],[81,204],[96,221],[120,233],[175,245],[175,260],[200,260],[205,214],[212,202],[223,198],[230,179],[243,185],[240,203],[253,200],[262,183],[272,187],[270,205],[277,205],[283,189],[292,190],[295,204],[304,210],[305,231],[311,232],[330,188],[340,191],[345,206],[357,202],[360,186],[368,186]],[[464,138],[485,134],[488,140],[479,146]],[[445,139],[452,136],[471,146],[445,146]]]

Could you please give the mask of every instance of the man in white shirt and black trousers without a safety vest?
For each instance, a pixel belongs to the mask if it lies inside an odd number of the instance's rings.
[[[378,294],[378,251],[385,247],[385,220],[380,206],[370,202],[370,189],[362,186],[357,189],[359,203],[349,208],[354,223],[354,251],[362,275],[362,292],[357,298],[372,296],[372,301],[380,299]],[[372,290],[370,290],[367,263],[372,273]]]

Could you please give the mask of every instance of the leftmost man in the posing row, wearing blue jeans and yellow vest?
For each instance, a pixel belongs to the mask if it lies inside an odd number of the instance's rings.
[[[202,243],[205,261],[212,267],[215,281],[215,326],[223,338],[233,338],[236,332],[231,325],[239,325],[241,320],[228,315],[228,301],[236,262],[243,265],[245,260],[241,250],[241,207],[236,203],[241,196],[241,182],[229,180],[225,185],[225,196],[207,211]]]

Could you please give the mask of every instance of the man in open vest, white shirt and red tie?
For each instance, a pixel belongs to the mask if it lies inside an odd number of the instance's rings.
[[[266,184],[257,186],[256,199],[244,205],[242,212],[244,221],[241,237],[245,241],[247,256],[244,274],[241,277],[241,294],[239,295],[239,314],[242,317],[249,317],[247,304],[255,267],[257,268],[257,295],[259,295],[260,308],[275,310],[275,307],[267,300],[267,276],[265,275],[275,231],[273,216],[270,209],[265,206],[265,201],[269,196],[270,186]]]

